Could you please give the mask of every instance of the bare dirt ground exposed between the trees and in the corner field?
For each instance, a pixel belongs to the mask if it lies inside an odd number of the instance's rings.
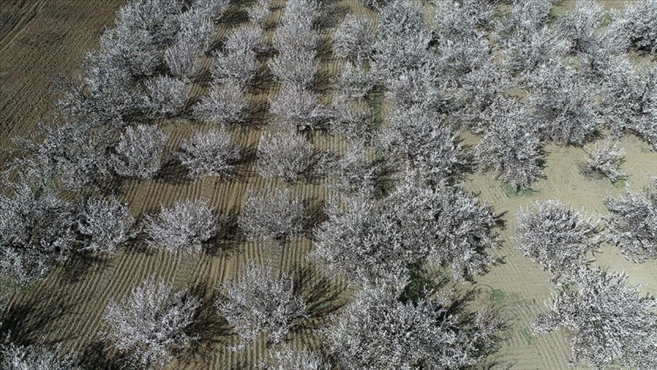
[[[47,120],[55,99],[47,92],[49,74],[75,76],[87,51],[98,46],[105,27],[111,26],[123,0],[10,0],[0,1],[0,140],[30,132],[39,120]],[[572,3],[572,2],[570,2]],[[622,1],[602,1],[606,7],[620,7]],[[368,13],[355,0],[344,0],[344,7]],[[284,6],[284,0],[274,5]],[[564,3],[560,6],[570,7]],[[280,14],[278,11],[275,17]],[[324,37],[328,37],[324,35]],[[328,68],[328,63],[324,64]],[[195,92],[200,88],[196,87]],[[274,91],[270,92],[273,93]],[[254,99],[262,99],[256,97]],[[203,129],[189,122],[167,124],[169,145],[175,150],[180,140]],[[260,130],[236,130],[235,140],[244,148],[253,148]],[[466,138],[474,144],[475,138]],[[332,138],[317,138],[317,147],[340,149],[342,143]],[[657,174],[657,153],[644,142],[628,137],[620,143],[625,151],[623,169],[629,172],[627,186],[633,189],[646,184],[649,174]],[[480,194],[480,200],[492,203],[503,213],[507,227],[500,231],[503,246],[497,255],[505,263],[476,278],[482,288],[482,300],[499,305],[509,320],[509,330],[501,350],[491,358],[495,369],[533,370],[568,369],[570,357],[568,336],[563,332],[533,336],[530,317],[545,311],[543,302],[551,296],[548,275],[526,259],[512,239],[516,230],[515,213],[536,199],[559,198],[589,215],[606,215],[602,200],[608,194],[622,194],[608,180],[591,180],[580,174],[578,165],[585,153],[574,147],[547,145],[546,178],[535,186],[531,196],[509,196],[502,184],[490,174],[472,174],[467,190]],[[1,157],[0,157],[1,158]],[[6,158],[6,157],[5,157]],[[252,163],[240,169],[240,176],[229,179],[208,177],[186,180],[171,176],[156,180],[126,181],[120,195],[131,205],[134,215],[156,211],[160,204],[168,206],[177,199],[208,198],[216,209],[229,213],[238,209],[248,191],[283,182],[256,175]],[[294,194],[319,205],[328,190],[321,183],[301,182]],[[52,273],[45,282],[21,299],[14,300],[8,321],[14,320],[14,332],[24,340],[62,342],[64,348],[93,358],[99,366],[110,361],[97,332],[106,302],[120,299],[131,287],[152,275],[171,280],[177,286],[214,289],[227,278],[237,277],[249,259],[263,263],[271,259],[286,271],[305,266],[306,252],[311,250],[308,238],[292,240],[284,246],[263,243],[217,243],[215,248],[198,256],[179,256],[145,246],[131,246],[109,259],[69,265]],[[657,263],[626,261],[620,251],[604,245],[595,255],[596,265],[614,271],[625,271],[632,283],[645,283],[645,292],[657,292]],[[335,289],[340,289],[335,286]],[[206,307],[212,308],[210,306]],[[247,369],[265,353],[263,340],[252,350],[234,353],[228,349],[232,339],[221,335],[222,328],[204,332],[202,346],[177,359],[171,369]],[[294,346],[315,348],[316,338],[307,333],[292,335]]]

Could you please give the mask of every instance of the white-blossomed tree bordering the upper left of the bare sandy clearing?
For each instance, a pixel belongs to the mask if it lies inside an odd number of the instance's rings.
[[[527,124],[527,113],[518,103],[503,102],[502,108],[489,112],[492,126],[475,147],[475,157],[484,170],[494,170],[497,176],[514,188],[528,188],[543,170],[539,167],[541,142]]]

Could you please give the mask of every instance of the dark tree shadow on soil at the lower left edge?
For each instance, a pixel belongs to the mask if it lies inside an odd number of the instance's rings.
[[[64,317],[74,315],[80,304],[78,300],[71,302],[70,297],[62,292],[41,290],[27,293],[5,311],[0,323],[0,335],[9,338],[14,344],[24,346],[37,342],[56,344],[62,340],[72,340],[77,336],[59,334],[46,342],[43,338],[46,335],[52,336],[53,331],[49,327]]]

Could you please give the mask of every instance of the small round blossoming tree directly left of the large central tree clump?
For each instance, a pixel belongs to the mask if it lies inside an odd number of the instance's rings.
[[[272,190],[267,187],[252,190],[242,205],[238,223],[251,240],[283,240],[302,232],[304,205],[296,197],[291,199],[290,189]]]

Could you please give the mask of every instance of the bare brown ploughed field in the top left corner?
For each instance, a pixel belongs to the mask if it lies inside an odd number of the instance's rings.
[[[48,120],[57,98],[49,76],[76,76],[124,0],[0,1],[0,140]],[[6,153],[0,154],[0,160]]]

